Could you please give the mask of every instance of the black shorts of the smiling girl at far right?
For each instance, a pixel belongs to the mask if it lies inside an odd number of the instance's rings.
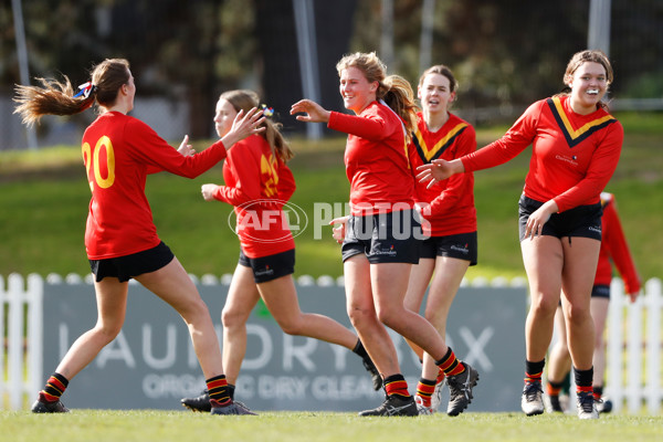
[[[535,201],[525,196],[518,201],[518,218],[520,241],[525,238],[525,229],[527,220],[544,203]],[[601,203],[589,206],[578,206],[561,213],[552,213],[548,222],[544,224],[541,234],[564,238],[564,236],[580,236],[591,238],[601,241],[601,215],[603,209]]]

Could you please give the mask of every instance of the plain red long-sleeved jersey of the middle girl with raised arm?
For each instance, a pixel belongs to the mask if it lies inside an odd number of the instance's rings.
[[[404,126],[393,110],[372,102],[359,115],[332,112],[327,126],[348,134],[344,159],[352,214],[413,207],[414,176]]]

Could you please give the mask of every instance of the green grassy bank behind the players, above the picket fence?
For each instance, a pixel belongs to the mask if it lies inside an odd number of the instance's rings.
[[[618,115],[625,127],[622,158],[608,189],[615,193],[638,269],[648,280],[663,276],[663,114]],[[478,128],[478,146],[505,128]],[[345,203],[348,181],[343,166],[345,138],[318,143],[293,140],[297,156],[291,167],[297,181],[292,202],[309,218],[314,203]],[[203,143],[197,145],[199,149]],[[528,152],[501,167],[475,173],[480,263],[475,276],[523,276],[517,241],[517,199],[528,166]],[[232,273],[239,244],[228,227],[231,208],[204,202],[200,185],[222,182],[221,165],[194,180],[169,173],[150,176],[147,196],[159,235],[193,274]],[[0,275],[90,272],[83,232],[90,190],[77,146],[38,151],[0,152]],[[314,239],[314,229],[296,238],[296,275],[338,276],[338,245],[330,229]]]

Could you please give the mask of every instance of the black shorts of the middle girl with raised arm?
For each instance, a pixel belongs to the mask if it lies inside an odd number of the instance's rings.
[[[350,215],[340,248],[343,261],[364,253],[371,264],[418,264],[423,239],[418,217],[413,210]]]

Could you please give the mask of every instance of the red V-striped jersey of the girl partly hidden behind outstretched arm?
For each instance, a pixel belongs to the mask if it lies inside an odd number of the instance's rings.
[[[446,123],[436,131],[430,131],[422,113],[417,114],[417,131],[410,143],[410,164],[417,170],[419,166],[434,159],[448,161],[476,150],[476,134],[465,120],[449,114]],[[474,207],[474,175],[456,173],[430,189],[428,182],[417,182],[417,202],[428,202],[430,208],[423,211],[430,222],[432,236],[445,236],[476,231],[476,209]],[[422,224],[428,228],[427,223]]]

